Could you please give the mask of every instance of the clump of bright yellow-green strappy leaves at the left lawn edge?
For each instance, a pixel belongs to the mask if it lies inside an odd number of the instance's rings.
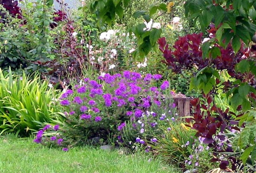
[[[38,74],[15,76],[9,71],[4,75],[0,69],[0,134],[29,136],[44,122],[59,119],[56,97],[57,92],[49,89],[48,82],[40,80]]]

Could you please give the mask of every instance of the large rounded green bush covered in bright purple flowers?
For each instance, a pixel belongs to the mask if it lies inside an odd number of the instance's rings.
[[[157,119],[171,120],[174,115],[169,82],[160,82],[161,78],[160,74],[124,71],[100,76],[98,82],[84,79],[60,97],[66,119],[59,122],[59,135],[65,136],[69,146],[136,142],[138,134],[150,133],[146,127],[157,127]],[[140,122],[145,128],[139,128]],[[133,127],[130,134],[125,130],[128,125]]]

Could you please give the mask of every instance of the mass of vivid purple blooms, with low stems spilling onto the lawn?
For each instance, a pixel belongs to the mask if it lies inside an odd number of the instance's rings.
[[[159,120],[166,123],[173,116],[169,112],[175,105],[173,102],[167,104],[166,98],[163,100],[163,94],[170,95],[169,81],[160,83],[161,78],[160,74],[141,75],[132,71],[105,74],[98,81],[86,78],[60,97],[60,105],[67,118],[66,125],[76,124],[70,126],[70,129],[75,128],[79,135],[84,133],[84,128],[93,131],[91,136],[108,136],[111,131],[112,136],[119,136],[118,141],[125,142],[122,133],[127,123],[131,123],[133,130],[137,130],[140,136],[136,142],[145,145],[146,139],[143,136],[156,129]],[[58,130],[59,126],[47,125],[39,130],[35,142],[42,143],[44,131],[50,128]],[[62,145],[62,140],[56,135],[49,137],[49,141],[57,145]],[[157,143],[157,138],[152,136],[151,142]]]

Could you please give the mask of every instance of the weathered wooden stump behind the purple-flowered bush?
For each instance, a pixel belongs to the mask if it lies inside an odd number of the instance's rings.
[[[173,94],[172,98],[176,104],[178,116],[190,116],[190,97],[183,94]]]

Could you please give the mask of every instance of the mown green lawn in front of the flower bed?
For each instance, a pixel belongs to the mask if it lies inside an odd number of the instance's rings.
[[[142,154],[77,147],[64,152],[12,136],[0,138],[0,173],[178,173]]]

